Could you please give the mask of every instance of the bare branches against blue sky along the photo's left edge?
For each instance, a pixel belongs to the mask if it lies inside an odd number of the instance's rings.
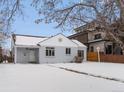
[[[16,15],[22,15],[22,0],[0,0],[0,45],[5,48]]]

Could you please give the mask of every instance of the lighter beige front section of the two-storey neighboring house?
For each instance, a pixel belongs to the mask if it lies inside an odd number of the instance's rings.
[[[97,52],[97,47],[100,47],[100,52],[105,54],[113,54],[114,52],[114,42],[106,38],[104,32],[89,31],[88,44],[90,52]]]

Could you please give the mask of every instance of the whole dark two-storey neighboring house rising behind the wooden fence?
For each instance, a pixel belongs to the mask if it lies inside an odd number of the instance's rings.
[[[97,52],[97,47],[100,47],[100,52],[105,54],[114,54],[118,46],[117,43],[102,31],[96,24],[81,26],[75,29],[77,32],[69,36],[69,39],[76,39],[83,42],[88,47],[88,52]]]

